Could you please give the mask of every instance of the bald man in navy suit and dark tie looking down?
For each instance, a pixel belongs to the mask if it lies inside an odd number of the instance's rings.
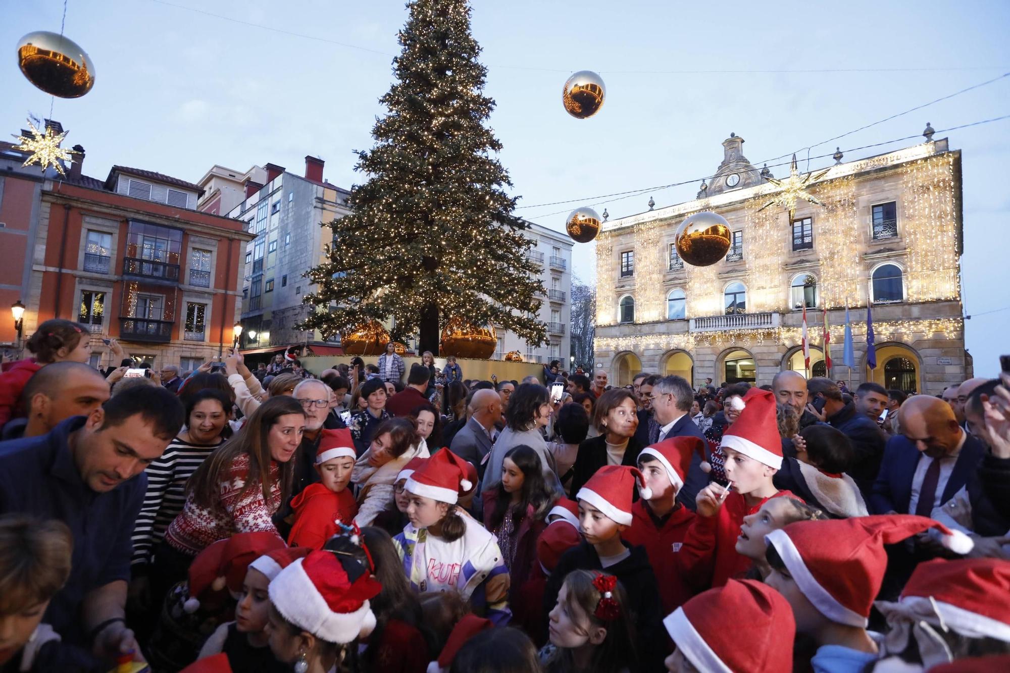
[[[898,430],[884,450],[868,504],[877,514],[928,516],[968,483],[985,449],[962,428],[949,404],[930,395],[901,405]]]

